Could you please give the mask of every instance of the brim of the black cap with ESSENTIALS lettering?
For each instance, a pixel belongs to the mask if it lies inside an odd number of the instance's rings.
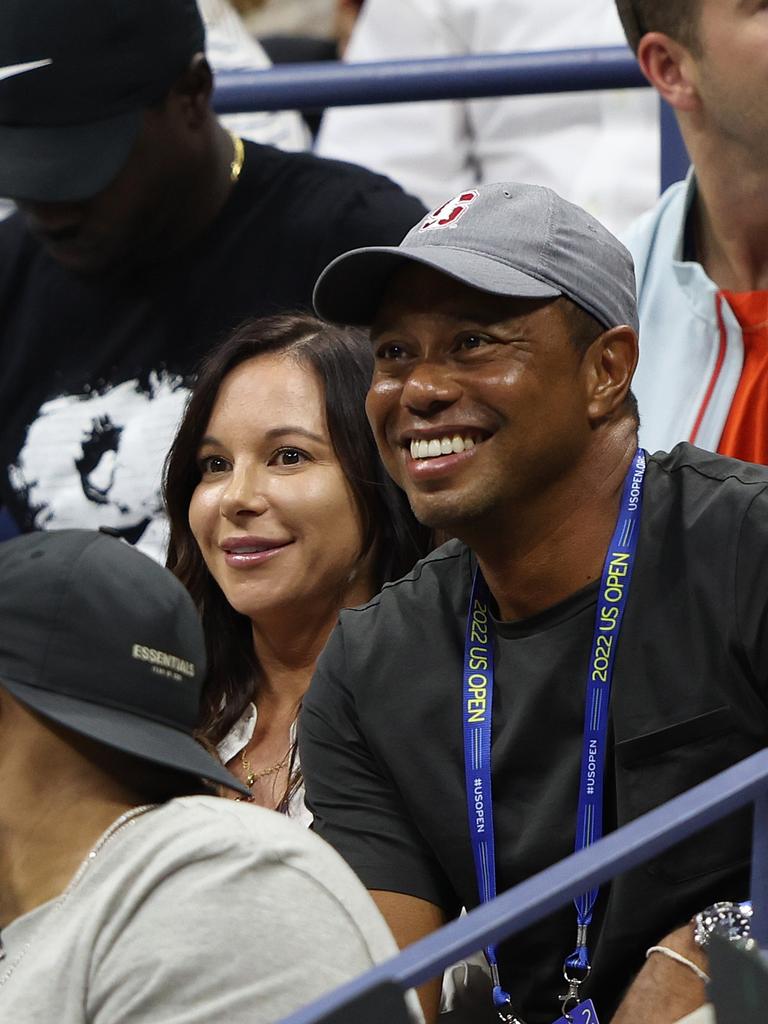
[[[16,683],[7,676],[3,676],[2,685],[28,708],[82,736],[163,768],[218,782],[246,797],[250,795],[240,779],[179,729],[122,709],[105,708],[39,686]]]

